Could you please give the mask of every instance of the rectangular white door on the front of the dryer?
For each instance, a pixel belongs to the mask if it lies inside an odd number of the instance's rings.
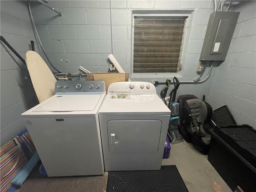
[[[110,154],[156,154],[160,141],[160,120],[111,120],[108,126]]]

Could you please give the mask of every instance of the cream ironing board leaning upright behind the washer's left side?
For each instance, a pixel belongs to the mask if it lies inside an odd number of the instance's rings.
[[[42,57],[34,51],[28,51],[26,64],[39,102],[53,96],[56,78]]]

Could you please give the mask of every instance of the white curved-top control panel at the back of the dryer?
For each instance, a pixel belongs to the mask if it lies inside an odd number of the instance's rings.
[[[156,88],[149,82],[114,82],[108,87],[108,92],[130,90],[130,94],[156,94]]]

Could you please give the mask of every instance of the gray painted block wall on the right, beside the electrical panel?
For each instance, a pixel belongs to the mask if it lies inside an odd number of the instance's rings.
[[[256,1],[240,12],[226,60],[218,66],[209,95],[214,109],[227,105],[238,124],[256,129]]]

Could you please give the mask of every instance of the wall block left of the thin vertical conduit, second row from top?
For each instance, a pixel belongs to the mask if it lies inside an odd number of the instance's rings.
[[[86,8],[87,20],[90,25],[110,25],[110,9]]]

